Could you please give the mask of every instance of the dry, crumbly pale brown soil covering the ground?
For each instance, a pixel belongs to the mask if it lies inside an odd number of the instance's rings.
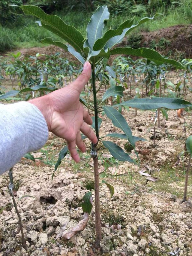
[[[11,204],[7,192],[8,175],[7,173],[1,175],[0,209],[4,206],[8,207],[0,214],[0,256],[192,255],[191,172],[188,200],[182,203],[183,168],[184,166],[186,168],[188,159],[188,156],[181,158],[180,154],[184,151],[184,120],[177,117],[175,110],[168,111],[168,115],[168,121],[163,122],[161,117],[162,127],[157,128],[154,148],[155,111],[138,110],[136,117],[132,108],[124,113],[133,135],[147,140],[136,143],[141,160],[140,166],[127,162],[113,162],[110,166],[109,153],[102,144],[99,144],[100,181],[104,179],[113,184],[115,189],[112,198],[105,184],[100,190],[102,219],[100,250],[96,250],[94,246],[94,207],[86,228],[69,240],[61,240],[63,231],[70,230],[83,219],[81,201],[88,191],[88,184],[94,179],[92,160],[88,158],[88,152],[81,154],[79,165],[74,164],[70,157],[63,160],[53,180],[54,166],[43,164],[45,155],[42,152],[34,154],[38,158],[35,166],[29,161],[22,160],[14,167],[16,202],[23,195],[35,197],[25,197],[17,204],[27,251],[21,246],[20,233],[16,234],[18,228],[16,212],[12,206],[8,206]],[[187,136],[189,136],[192,131],[190,113],[186,112],[185,120]],[[101,136],[108,132],[119,132],[105,116],[102,127]],[[122,140],[116,142],[125,148],[125,142]],[[51,147],[54,148],[54,152],[59,152],[62,143],[61,139],[50,134],[43,150]],[[88,141],[85,143],[89,151],[90,144]],[[41,161],[38,154],[42,156]],[[57,157],[55,161],[56,159]],[[146,177],[139,174],[139,171],[146,166],[151,169],[151,175],[158,178],[157,181],[146,182]],[[149,172],[148,169],[146,172]],[[114,222],[121,224],[121,229],[110,228]]]

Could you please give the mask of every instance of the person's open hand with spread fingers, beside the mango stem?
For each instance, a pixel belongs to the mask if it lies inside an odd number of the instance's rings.
[[[77,163],[80,158],[76,145],[82,152],[86,151],[80,131],[94,144],[98,141],[95,133],[87,125],[92,124],[92,119],[79,101],[80,93],[90,77],[91,65],[85,62],[82,74],[72,84],[29,101],[42,112],[49,131],[66,139],[71,157]]]

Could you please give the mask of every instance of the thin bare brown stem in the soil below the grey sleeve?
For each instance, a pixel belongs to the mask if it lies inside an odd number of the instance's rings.
[[[25,241],[25,237],[24,237],[24,233],[23,233],[23,226],[22,226],[21,216],[19,214],[19,211],[18,211],[18,208],[17,208],[17,204],[15,202],[15,197],[13,195],[13,187],[14,187],[14,185],[13,185],[13,168],[11,168],[9,170],[9,180],[10,180],[10,183],[9,183],[9,193],[10,193],[10,196],[12,197],[13,205],[15,207],[15,211],[16,211],[16,214],[17,214],[18,219],[19,219],[19,227],[20,227],[20,230],[21,230],[22,246],[27,251],[27,245],[26,245],[26,241]]]

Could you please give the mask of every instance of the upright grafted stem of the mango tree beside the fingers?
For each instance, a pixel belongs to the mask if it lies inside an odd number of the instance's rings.
[[[95,85],[95,65],[92,64],[92,86],[93,86],[93,99],[95,111],[95,133],[99,141],[98,129],[98,105],[97,105],[97,92]],[[99,171],[98,171],[98,157],[97,157],[97,144],[91,143],[91,157],[94,163],[94,178],[95,178],[95,248],[100,247],[101,241],[101,218],[100,218],[100,202],[99,202]]]

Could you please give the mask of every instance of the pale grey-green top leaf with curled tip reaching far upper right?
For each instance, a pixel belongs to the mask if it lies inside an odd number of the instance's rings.
[[[161,15],[161,14],[155,14],[152,18],[144,17],[136,25],[132,25],[130,28],[124,29],[121,35],[116,35],[112,37],[105,45],[105,48],[109,47],[111,49],[114,45],[119,44],[127,33],[131,32],[133,29],[136,29],[138,26],[145,23],[146,21],[153,20],[156,15]]]

